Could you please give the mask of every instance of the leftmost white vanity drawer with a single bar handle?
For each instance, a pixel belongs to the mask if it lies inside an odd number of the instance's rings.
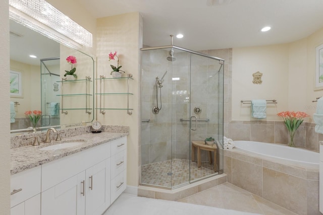
[[[40,193],[40,166],[11,176],[11,207]]]

